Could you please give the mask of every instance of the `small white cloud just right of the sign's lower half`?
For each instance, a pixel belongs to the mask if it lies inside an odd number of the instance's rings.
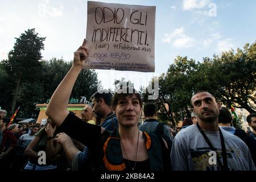
[[[195,45],[196,40],[185,35],[184,28],[176,28],[171,34],[164,34],[164,43],[172,43],[176,48],[188,48]]]

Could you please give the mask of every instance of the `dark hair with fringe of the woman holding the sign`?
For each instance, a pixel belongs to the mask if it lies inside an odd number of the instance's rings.
[[[131,94],[134,94],[138,100],[139,100],[139,105],[142,107],[142,100],[141,100],[141,95],[138,93],[137,90],[135,90],[133,87],[130,86],[125,86],[121,89],[118,89],[117,92],[115,92],[114,97],[112,99],[112,110],[117,107],[117,103],[120,100],[120,98],[127,97]]]

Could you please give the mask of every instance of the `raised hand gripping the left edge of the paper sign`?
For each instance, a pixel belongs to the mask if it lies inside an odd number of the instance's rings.
[[[74,60],[73,60],[73,67],[79,67],[82,69],[83,62],[87,59],[89,55],[89,49],[85,47],[86,39],[82,43],[76,52],[74,52]]]

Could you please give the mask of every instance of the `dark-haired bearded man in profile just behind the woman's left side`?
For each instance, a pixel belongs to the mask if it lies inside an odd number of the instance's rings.
[[[94,93],[90,100],[93,102],[93,112],[97,118],[104,118],[101,127],[114,131],[118,127],[117,117],[111,110],[112,94],[108,90],[99,90]]]

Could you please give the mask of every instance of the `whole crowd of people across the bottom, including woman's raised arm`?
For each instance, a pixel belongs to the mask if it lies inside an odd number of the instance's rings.
[[[88,57],[82,46],[47,106],[47,124],[6,128],[0,121],[0,168],[25,171],[255,171],[256,114],[250,135],[231,126],[232,117],[215,97],[191,97],[193,113],[179,133],[157,119],[154,102],[143,104],[134,88],[114,95],[99,90],[77,117],[67,109],[73,85]],[[144,106],[143,106],[144,105]],[[138,121],[146,118],[142,125]],[[5,117],[1,110],[0,116]],[[21,129],[22,128],[22,129]],[[16,134],[18,133],[18,134]],[[23,134],[23,135],[21,135]]]

